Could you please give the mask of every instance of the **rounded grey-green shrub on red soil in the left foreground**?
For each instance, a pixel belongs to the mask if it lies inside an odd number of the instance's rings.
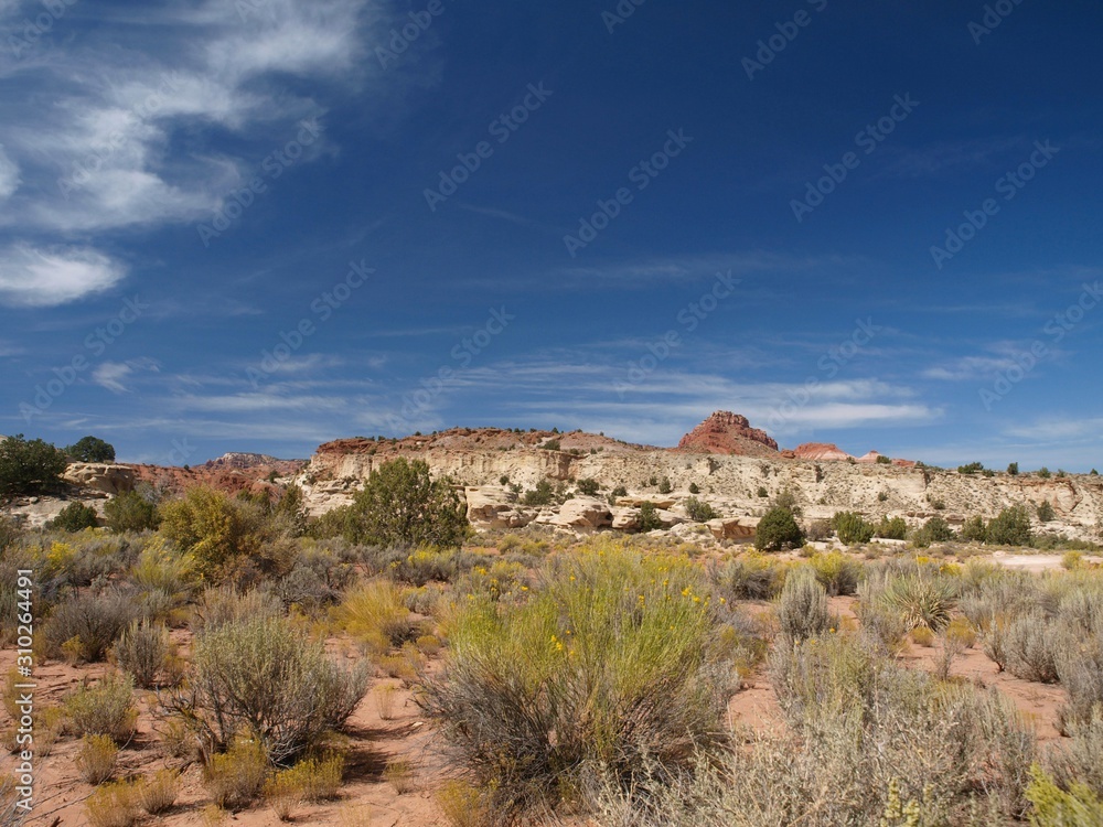
[[[366,664],[345,672],[326,658],[321,641],[281,617],[259,616],[204,626],[186,685],[168,706],[215,749],[255,737],[268,760],[280,763],[342,726],[366,690]]]

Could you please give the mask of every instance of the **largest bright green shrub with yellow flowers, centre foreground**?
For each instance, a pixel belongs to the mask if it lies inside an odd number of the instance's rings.
[[[699,569],[599,546],[544,580],[524,605],[464,606],[417,696],[500,812],[577,803],[598,765],[625,786],[649,763],[670,777],[725,742],[733,672],[707,657]]]

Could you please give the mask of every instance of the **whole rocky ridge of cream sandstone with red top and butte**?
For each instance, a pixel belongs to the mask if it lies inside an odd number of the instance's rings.
[[[646,501],[654,503],[664,528],[675,536],[705,533],[718,539],[747,539],[773,497],[785,490],[794,494],[805,519],[857,511],[871,519],[901,516],[912,525],[940,515],[961,525],[973,514],[992,517],[1008,506],[1034,507],[1049,501],[1057,520],[1038,524],[1037,530],[1097,538],[1103,527],[1101,477],[963,475],[908,461],[886,464],[877,461],[876,452],[858,461],[826,444],[802,445],[786,459],[748,436],[756,429],[743,417],[718,412],[706,422],[707,428],[695,429],[705,434],[702,439],[683,440],[688,449],[631,445],[581,431],[467,428],[395,441],[339,440],[319,447],[296,482],[303,487],[311,512],[320,514],[351,502],[381,464],[396,457],[420,459],[435,475],[456,482],[469,519],[484,529],[547,525],[583,534],[635,530],[639,505]],[[717,423],[733,432],[718,434]],[[700,445],[709,441],[768,455],[706,452]],[[525,505],[522,492],[542,480],[576,495],[559,506]],[[599,496],[579,495],[581,480],[596,481]],[[663,493],[664,483],[668,493]],[[610,493],[620,486],[627,495],[610,504]],[[686,511],[690,496],[710,505],[717,520],[705,525],[690,520]]]

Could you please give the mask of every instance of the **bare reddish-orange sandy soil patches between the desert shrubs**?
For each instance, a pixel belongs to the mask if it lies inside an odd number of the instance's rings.
[[[1058,555],[1004,555],[996,557],[1002,565],[1040,571],[1059,568]],[[854,598],[833,599],[833,610],[856,623]],[[752,611],[769,611],[769,604],[752,604]],[[847,623],[847,620],[844,620]],[[173,637],[186,652],[189,633],[176,630]],[[331,641],[331,652],[349,652],[341,641]],[[912,668],[932,670],[939,655],[936,645],[923,647],[909,644],[900,655],[903,664]],[[351,656],[351,655],[345,655]],[[0,652],[0,675],[14,665],[11,648]],[[439,657],[430,668],[439,667]],[[57,660],[39,664],[35,680],[39,688],[35,702],[39,707],[57,704],[62,697],[82,681],[104,675],[110,667],[104,664],[72,667]],[[1010,698],[1016,707],[1036,728],[1039,741],[1053,742],[1060,738],[1057,729],[1058,709],[1064,701],[1059,685],[1042,685],[1021,680],[997,670],[979,648],[967,649],[953,665],[952,675],[978,687],[995,687]],[[393,710],[386,720],[381,716],[378,688],[394,687]],[[194,761],[167,756],[156,732],[152,710],[156,698],[143,694],[138,732],[119,754],[117,777],[149,774],[164,766],[182,769],[181,794],[175,807],[157,819],[170,827],[202,824],[201,812],[210,803],[203,787],[200,766]],[[782,726],[782,715],[777,697],[763,670],[752,674],[729,704],[729,720],[735,727],[774,729]],[[0,712],[0,726],[7,726],[7,716]],[[446,777],[446,766],[440,744],[429,722],[420,716],[411,692],[394,678],[377,677],[372,690],[357,707],[349,726],[345,783],[341,797],[334,802],[303,805],[295,819],[301,825],[341,825],[342,827],[422,827],[448,824],[437,806],[433,792]],[[81,781],[74,766],[77,741],[72,737],[60,739],[46,758],[39,759],[38,805],[28,824],[43,827],[57,825],[86,825],[84,799],[92,787]],[[416,767],[416,788],[399,795],[383,777],[384,767],[392,761],[405,760]],[[280,821],[271,808],[261,804],[233,814],[224,821],[238,827],[275,827]]]

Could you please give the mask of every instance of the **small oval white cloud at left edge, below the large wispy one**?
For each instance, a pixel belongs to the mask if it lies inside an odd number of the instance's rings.
[[[17,243],[0,249],[0,303],[54,307],[109,290],[126,267],[87,247],[39,248]]]

